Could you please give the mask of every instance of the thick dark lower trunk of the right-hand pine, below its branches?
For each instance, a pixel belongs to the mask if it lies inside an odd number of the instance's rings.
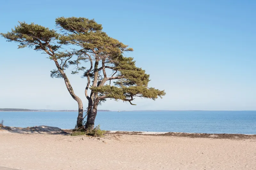
[[[98,103],[99,102],[94,101],[93,104],[92,104],[92,102],[89,102],[89,104],[88,104],[88,108],[91,107],[92,109],[90,109],[90,110],[88,109],[88,112],[87,112],[87,121],[85,124],[86,130],[92,131],[94,129],[94,121],[95,121],[95,118],[97,115]]]

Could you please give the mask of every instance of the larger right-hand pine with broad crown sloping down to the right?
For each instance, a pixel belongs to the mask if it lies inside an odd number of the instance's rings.
[[[133,58],[124,56],[125,52],[133,49],[109,37],[94,20],[60,17],[56,19],[56,25],[64,33],[59,43],[74,46],[72,53],[77,58],[69,62],[76,65],[73,73],[85,70],[84,66],[81,67],[84,62],[90,63],[90,68],[84,71],[87,78],[85,96],[88,100],[85,129],[94,128],[97,107],[108,98],[135,105],[132,103],[134,97],[155,100],[165,95],[164,90],[148,87],[149,75],[135,66]],[[108,72],[111,72],[110,76],[107,76]],[[90,95],[88,89],[91,89]]]

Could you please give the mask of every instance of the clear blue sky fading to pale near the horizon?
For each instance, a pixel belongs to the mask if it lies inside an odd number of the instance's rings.
[[[127,56],[164,89],[156,101],[132,106],[108,100],[107,110],[256,110],[256,1],[98,0],[3,1],[0,32],[18,21],[55,29],[57,17],[85,17],[134,49]],[[0,37],[0,108],[75,110],[52,60]],[[70,71],[70,70],[69,70]],[[86,79],[68,74],[86,108]]]

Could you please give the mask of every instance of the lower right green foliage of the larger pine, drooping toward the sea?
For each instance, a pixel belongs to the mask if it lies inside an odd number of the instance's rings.
[[[113,98],[130,103],[135,96],[156,100],[156,98],[162,98],[165,95],[164,90],[148,87],[149,74],[146,74],[145,70],[136,67],[133,58],[119,56],[111,64],[119,77],[114,83],[115,86],[91,87],[90,89],[93,92],[98,92],[101,96],[105,95],[105,98]]]

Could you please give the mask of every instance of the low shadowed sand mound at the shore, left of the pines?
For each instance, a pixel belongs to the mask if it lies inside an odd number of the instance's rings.
[[[66,134],[65,131],[61,130],[58,127],[51,126],[35,126],[27,128],[19,127],[4,127],[3,130],[13,132],[13,133],[23,133],[23,134],[32,134],[32,133],[41,133],[41,134]]]

